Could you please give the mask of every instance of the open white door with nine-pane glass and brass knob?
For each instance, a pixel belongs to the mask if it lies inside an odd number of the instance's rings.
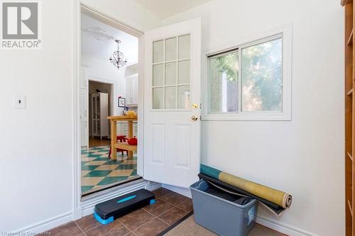
[[[200,170],[200,18],[145,33],[143,177],[187,188]]]

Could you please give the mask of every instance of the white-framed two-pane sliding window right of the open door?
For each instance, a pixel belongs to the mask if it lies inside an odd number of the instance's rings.
[[[290,34],[207,55],[204,119],[290,120]]]

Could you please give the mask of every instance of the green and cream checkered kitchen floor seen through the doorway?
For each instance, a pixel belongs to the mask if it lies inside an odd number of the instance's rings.
[[[89,147],[82,151],[82,193],[105,188],[137,176],[137,156],[129,159],[126,152],[117,152],[109,159],[109,146]]]

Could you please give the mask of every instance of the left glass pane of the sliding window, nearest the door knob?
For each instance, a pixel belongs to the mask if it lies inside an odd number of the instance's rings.
[[[238,111],[238,76],[238,50],[209,59],[209,113]]]

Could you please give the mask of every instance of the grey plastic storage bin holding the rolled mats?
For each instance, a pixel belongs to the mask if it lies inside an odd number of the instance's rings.
[[[203,179],[190,186],[196,223],[222,236],[247,235],[255,226],[256,200],[239,205],[206,193],[209,188]]]

